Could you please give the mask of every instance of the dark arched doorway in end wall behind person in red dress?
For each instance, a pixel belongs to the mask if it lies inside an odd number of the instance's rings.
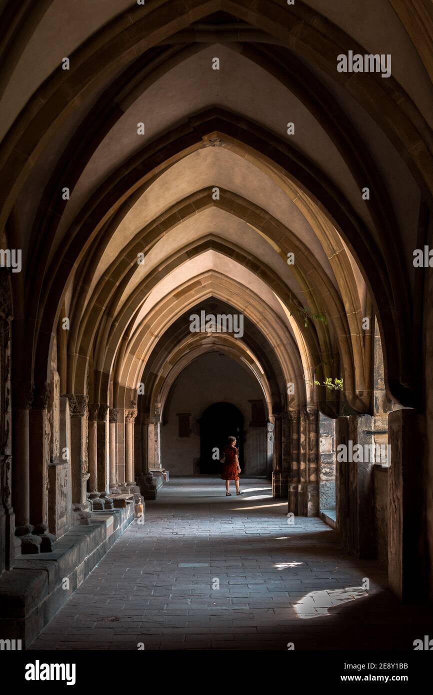
[[[220,473],[219,458],[213,459],[213,450],[222,455],[229,436],[236,436],[240,468],[243,471],[243,414],[231,403],[213,403],[200,418],[200,473]]]

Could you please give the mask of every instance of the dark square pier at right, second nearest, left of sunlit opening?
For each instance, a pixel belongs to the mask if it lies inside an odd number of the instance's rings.
[[[365,558],[376,555],[372,424],[370,415],[336,420],[336,523],[345,548]]]

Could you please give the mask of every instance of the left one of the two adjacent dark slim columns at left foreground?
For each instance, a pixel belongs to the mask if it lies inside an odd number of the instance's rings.
[[[30,427],[29,414],[33,400],[33,382],[14,384],[13,398],[13,506],[15,535],[21,541],[24,555],[40,552],[40,536],[32,534],[30,523]]]

